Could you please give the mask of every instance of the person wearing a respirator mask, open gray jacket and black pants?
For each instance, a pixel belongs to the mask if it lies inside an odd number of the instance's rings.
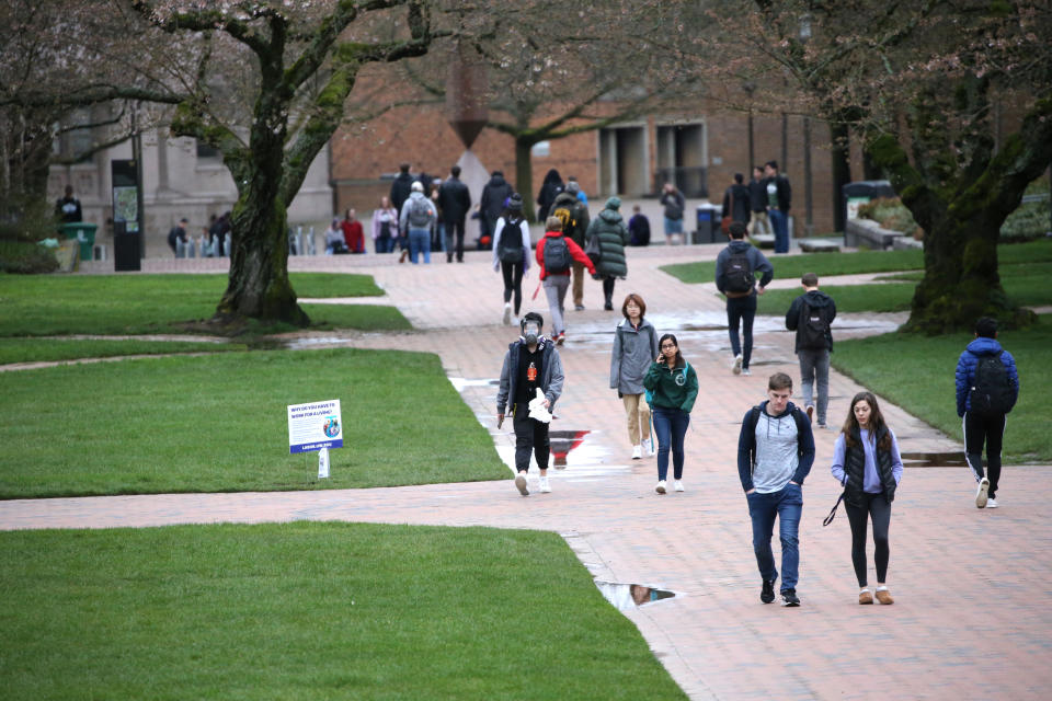
[[[504,423],[506,413],[512,415],[515,430],[515,489],[523,496],[529,495],[526,473],[529,471],[530,455],[537,459],[540,470],[540,493],[551,492],[548,483],[548,458],[551,452],[548,423],[531,417],[529,412],[529,402],[537,397],[538,390],[548,412],[554,409],[562,394],[562,360],[556,344],[544,336],[544,318],[537,312],[531,311],[523,317],[519,322],[522,336],[504,354],[501,384],[496,393],[496,427],[500,428]]]

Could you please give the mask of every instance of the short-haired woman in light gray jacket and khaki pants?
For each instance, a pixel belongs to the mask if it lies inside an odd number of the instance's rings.
[[[621,304],[625,319],[614,332],[610,356],[610,389],[625,402],[628,414],[628,438],[632,441],[632,460],[654,455],[650,441],[650,406],[643,399],[643,376],[658,356],[658,332],[643,319],[647,303],[631,294]]]

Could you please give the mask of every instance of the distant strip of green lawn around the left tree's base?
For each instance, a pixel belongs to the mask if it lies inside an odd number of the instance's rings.
[[[368,275],[293,273],[290,279],[305,298],[384,294]],[[182,331],[180,323],[213,315],[226,285],[226,275],[0,275],[0,336]],[[304,310],[321,327],[410,327],[390,307],[304,304]]]

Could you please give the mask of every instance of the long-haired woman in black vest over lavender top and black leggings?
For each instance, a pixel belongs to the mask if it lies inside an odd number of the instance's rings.
[[[873,522],[873,560],[877,564],[877,600],[894,604],[888,590],[888,529],[891,503],[902,480],[902,457],[895,434],[884,423],[877,398],[859,392],[833,448],[833,476],[844,487],[844,508],[851,526],[851,564],[858,579],[858,602],[872,604],[866,574],[866,527]]]

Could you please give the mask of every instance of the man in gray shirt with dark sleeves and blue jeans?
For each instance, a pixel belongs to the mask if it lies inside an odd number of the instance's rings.
[[[776,372],[767,381],[767,401],[745,413],[737,438],[737,474],[753,521],[753,552],[763,584],[759,600],[775,600],[778,568],[770,538],[778,517],[781,540],[781,605],[800,606],[800,514],[803,480],[814,463],[811,422],[789,398],[792,378]]]

